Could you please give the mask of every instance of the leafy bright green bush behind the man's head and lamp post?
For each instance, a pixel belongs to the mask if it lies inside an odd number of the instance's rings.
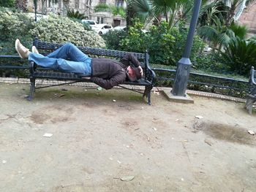
[[[187,30],[168,28],[165,22],[159,26],[151,26],[146,33],[142,29],[143,25],[135,21],[135,25],[129,27],[128,32],[112,31],[106,34],[104,38],[107,47],[140,53],[148,50],[151,63],[176,66],[184,52]],[[201,58],[203,47],[203,41],[195,36],[190,57],[192,63]]]

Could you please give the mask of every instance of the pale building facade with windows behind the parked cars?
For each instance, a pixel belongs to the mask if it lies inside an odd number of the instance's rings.
[[[50,0],[39,0],[37,12],[46,12],[47,14],[53,12],[58,15],[67,15],[67,8],[69,8],[85,14],[90,20],[97,20],[98,23],[107,23],[112,26],[126,25],[125,18],[121,18],[120,15],[113,16],[111,12],[94,12],[94,7],[100,3],[126,7],[124,0],[59,0],[56,4]],[[28,1],[28,9],[34,12],[33,0]]]

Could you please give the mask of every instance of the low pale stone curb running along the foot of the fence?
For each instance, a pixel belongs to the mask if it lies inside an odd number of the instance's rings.
[[[18,77],[0,77],[0,82],[4,82],[4,83],[23,83],[23,84],[29,84],[30,80],[27,78],[18,78]],[[72,82],[72,81],[66,81],[66,82]],[[40,85],[58,85],[60,83],[64,83],[64,81],[58,81],[58,80],[36,80],[36,84],[40,84]],[[95,85],[93,82],[75,82],[72,84],[69,84],[71,86],[85,86],[85,87],[89,87],[89,88],[97,88],[98,86]],[[126,88],[133,88],[137,91],[143,91],[144,87],[143,86],[138,86],[138,85],[122,85]],[[115,87],[115,88],[120,88],[120,87]],[[156,93],[156,91],[171,91],[171,88],[153,88],[154,93]],[[227,100],[227,101],[236,101],[236,102],[240,102],[240,103],[245,103],[246,100],[245,99],[240,99],[240,98],[236,98],[236,97],[232,97],[232,96],[223,96],[217,93],[207,93],[207,92],[202,92],[202,91],[192,91],[192,90],[187,90],[186,93],[188,93],[189,95],[194,95],[194,96],[204,96],[204,97],[208,97],[208,98],[214,98],[214,99],[223,99],[223,100]]]

